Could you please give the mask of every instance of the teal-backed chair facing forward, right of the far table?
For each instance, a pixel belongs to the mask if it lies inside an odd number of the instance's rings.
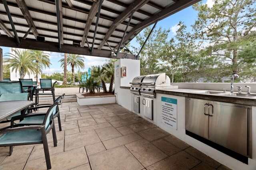
[[[57,81],[55,81],[52,84],[52,79],[40,78],[40,86],[41,87],[36,89],[36,104],[38,104],[40,95],[52,95],[53,102],[55,102],[54,86],[56,83],[57,83]],[[50,91],[50,92],[44,93],[45,91]],[[40,93],[40,92],[42,92],[42,93]]]

